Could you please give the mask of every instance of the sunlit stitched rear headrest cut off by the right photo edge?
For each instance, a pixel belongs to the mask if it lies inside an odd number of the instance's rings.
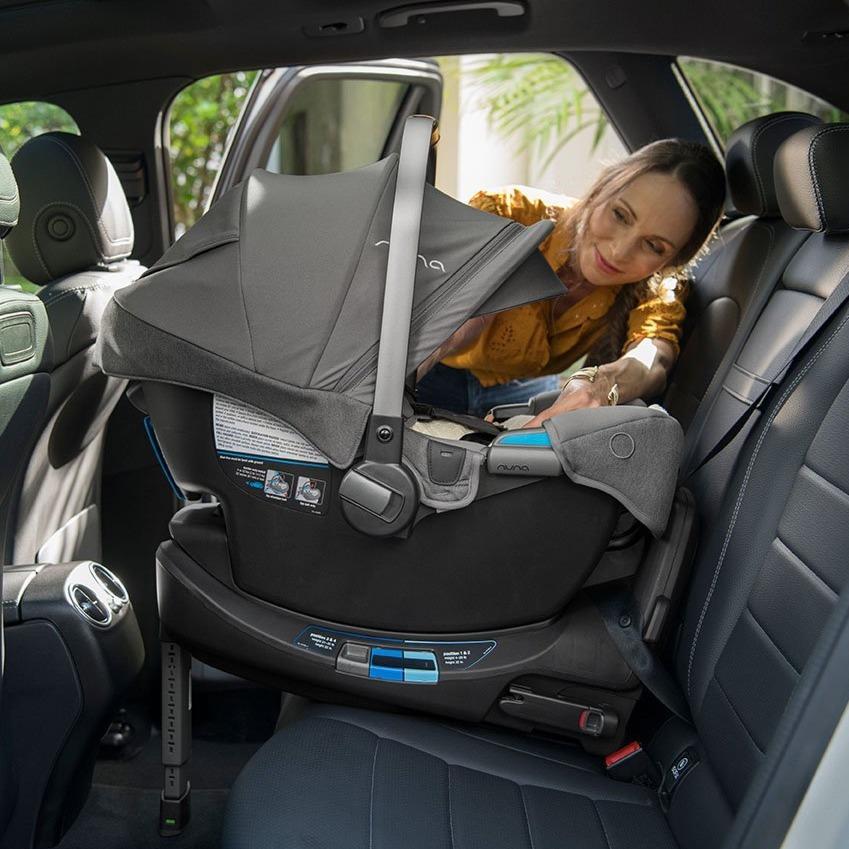
[[[794,133],[775,157],[781,216],[799,230],[849,233],[849,124]]]

